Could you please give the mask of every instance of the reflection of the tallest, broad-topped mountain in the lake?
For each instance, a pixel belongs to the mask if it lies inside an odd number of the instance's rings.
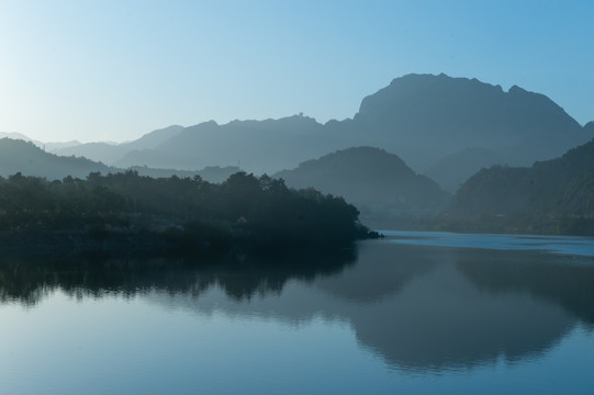
[[[423,253],[401,249],[403,256]],[[458,253],[350,319],[362,345],[404,369],[471,368],[530,358],[561,339],[575,318],[526,290],[483,292],[457,270]],[[464,251],[467,252],[467,251]]]

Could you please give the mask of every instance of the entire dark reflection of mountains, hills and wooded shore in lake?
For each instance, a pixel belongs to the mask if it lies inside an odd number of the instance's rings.
[[[349,323],[362,347],[399,369],[533,358],[578,324],[594,325],[594,267],[552,255],[365,242],[357,257],[237,257],[217,262],[110,259],[0,264],[0,298],[143,295],[164,308]],[[356,260],[356,261],[355,261]]]

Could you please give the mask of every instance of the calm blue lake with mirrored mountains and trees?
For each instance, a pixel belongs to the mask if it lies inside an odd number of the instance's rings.
[[[594,239],[0,258],[0,394],[593,394]]]

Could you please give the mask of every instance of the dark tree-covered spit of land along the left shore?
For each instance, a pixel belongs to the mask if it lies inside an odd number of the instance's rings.
[[[93,239],[158,235],[192,249],[336,245],[370,236],[357,208],[341,198],[245,172],[222,184],[135,171],[61,181],[16,173],[0,178],[0,230]]]

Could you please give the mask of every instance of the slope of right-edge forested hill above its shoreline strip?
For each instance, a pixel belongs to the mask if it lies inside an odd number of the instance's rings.
[[[453,215],[594,217],[594,140],[530,168],[495,166],[453,196]]]

